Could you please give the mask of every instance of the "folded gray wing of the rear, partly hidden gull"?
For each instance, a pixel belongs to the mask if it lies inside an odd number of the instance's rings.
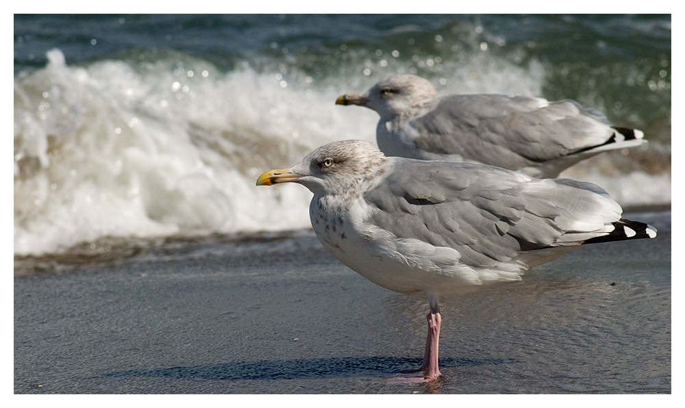
[[[461,154],[504,168],[522,168],[606,143],[614,134],[597,110],[575,101],[451,95],[412,120],[425,151]]]

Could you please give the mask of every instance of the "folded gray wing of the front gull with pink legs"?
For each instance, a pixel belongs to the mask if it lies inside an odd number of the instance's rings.
[[[384,182],[364,194],[372,209],[368,221],[397,238],[456,249],[471,266],[580,244],[620,218],[621,207],[589,183],[399,157],[388,168]]]

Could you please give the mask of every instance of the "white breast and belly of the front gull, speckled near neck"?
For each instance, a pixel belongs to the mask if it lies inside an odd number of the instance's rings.
[[[366,221],[364,201],[349,212],[327,212],[310,207],[312,226],[322,244],[340,262],[386,289],[400,293],[449,294],[485,281],[521,279],[519,270],[475,269],[460,262],[452,248],[395,236]]]

